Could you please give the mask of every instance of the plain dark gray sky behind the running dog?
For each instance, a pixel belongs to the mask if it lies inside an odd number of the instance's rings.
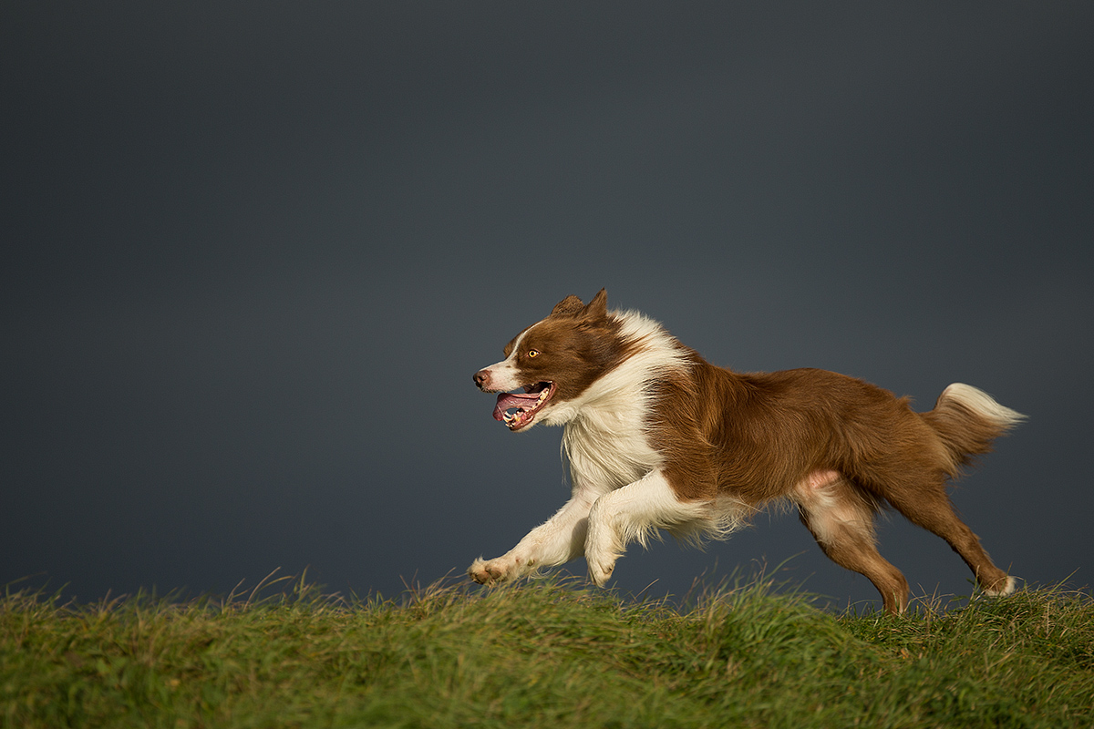
[[[0,584],[392,596],[497,556],[566,499],[561,432],[470,375],[606,286],[717,364],[1028,414],[954,499],[1090,585],[1092,37],[1089,2],[5,3]],[[614,584],[787,558],[875,598],[792,514]]]

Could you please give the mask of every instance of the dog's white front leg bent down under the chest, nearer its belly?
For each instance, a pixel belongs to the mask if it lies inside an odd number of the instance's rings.
[[[703,502],[680,501],[659,471],[604,494],[589,513],[585,536],[589,578],[604,587],[628,543],[638,541],[645,546],[660,528],[707,518],[708,507]]]

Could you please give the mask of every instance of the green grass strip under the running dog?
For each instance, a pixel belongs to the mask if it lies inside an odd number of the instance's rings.
[[[761,580],[685,607],[552,580],[400,601],[9,591],[0,725],[1090,727],[1094,602],[839,615]]]

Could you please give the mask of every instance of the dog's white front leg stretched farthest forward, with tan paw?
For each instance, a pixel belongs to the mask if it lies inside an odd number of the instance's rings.
[[[500,557],[479,557],[467,574],[476,583],[491,585],[516,579],[542,567],[554,567],[581,556],[585,546],[589,509],[596,495],[574,490],[573,496],[555,516],[539,525]]]

